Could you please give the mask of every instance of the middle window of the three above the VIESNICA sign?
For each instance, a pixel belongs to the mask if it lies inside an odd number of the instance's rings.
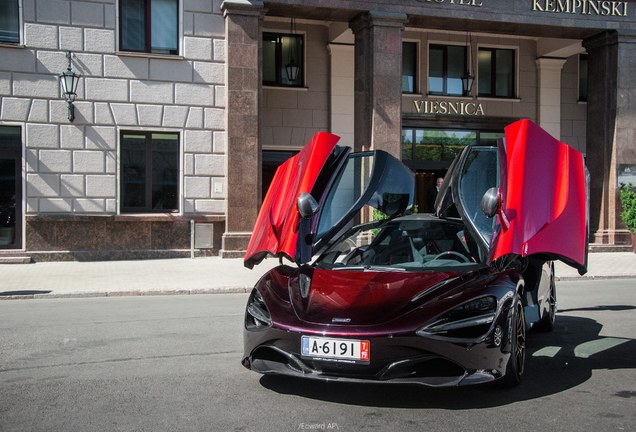
[[[466,71],[466,47],[431,45],[428,54],[428,93],[461,96],[462,76]]]

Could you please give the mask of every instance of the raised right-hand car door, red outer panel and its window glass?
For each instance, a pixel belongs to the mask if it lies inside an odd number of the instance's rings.
[[[497,190],[494,218],[482,197]],[[494,147],[467,147],[436,200],[436,214],[456,209],[492,264],[507,255],[561,260],[587,271],[587,177],[583,155],[529,120],[505,129]]]

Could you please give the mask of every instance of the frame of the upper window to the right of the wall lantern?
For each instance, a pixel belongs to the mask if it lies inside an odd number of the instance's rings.
[[[176,50],[175,52],[161,52],[154,51],[152,47],[152,2],[153,0],[142,0],[145,2],[144,11],[144,49],[136,50],[131,48],[124,48],[124,26],[123,26],[123,0],[117,0],[117,49],[118,53],[122,54],[137,54],[137,55],[149,55],[149,56],[166,56],[175,57],[181,56],[183,52],[183,1],[174,0],[177,6],[176,20]]]

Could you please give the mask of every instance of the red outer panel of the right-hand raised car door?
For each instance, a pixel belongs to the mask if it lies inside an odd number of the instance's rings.
[[[585,271],[587,196],[583,155],[529,120],[506,127],[502,211],[510,227],[494,242],[492,259],[547,253]]]

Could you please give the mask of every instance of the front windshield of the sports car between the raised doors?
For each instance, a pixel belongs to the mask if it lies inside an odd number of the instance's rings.
[[[314,264],[332,270],[460,270],[481,266],[479,253],[462,222],[415,215],[359,226]]]

